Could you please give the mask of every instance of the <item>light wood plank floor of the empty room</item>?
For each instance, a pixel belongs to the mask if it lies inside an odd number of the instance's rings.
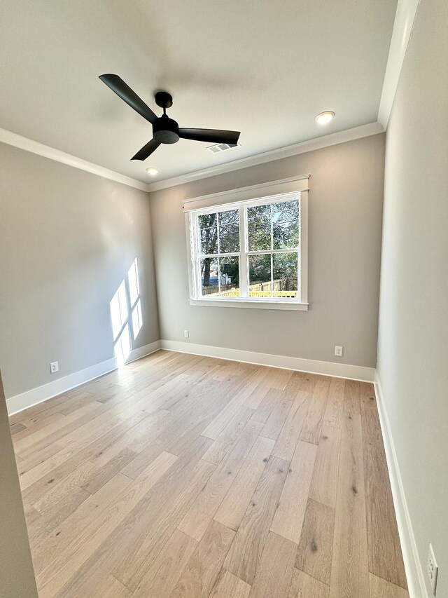
[[[371,384],[159,351],[11,417],[40,598],[407,598]]]

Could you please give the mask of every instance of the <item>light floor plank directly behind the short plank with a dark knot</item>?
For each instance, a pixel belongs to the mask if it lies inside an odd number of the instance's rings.
[[[309,497],[335,508],[341,431],[324,422],[314,463]]]

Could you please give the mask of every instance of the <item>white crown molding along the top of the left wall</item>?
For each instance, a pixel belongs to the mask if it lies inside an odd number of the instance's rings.
[[[114,172],[113,170],[103,168],[98,164],[87,162],[87,160],[77,158],[71,154],[66,154],[60,149],[55,149],[54,147],[33,141],[27,137],[22,137],[22,135],[17,135],[17,133],[13,133],[6,129],[0,128],[0,142],[13,145],[20,149],[25,149],[25,151],[31,151],[32,154],[38,154],[38,156],[50,158],[50,160],[55,160],[56,162],[62,162],[62,164],[73,166],[73,168],[85,170],[85,172],[91,172],[92,175],[97,175],[104,179],[110,179],[111,181],[116,181],[117,183],[140,189],[141,191],[149,191],[148,184],[146,183],[142,183],[141,181],[137,181],[136,179],[132,179],[125,175],[120,175],[120,172]]]

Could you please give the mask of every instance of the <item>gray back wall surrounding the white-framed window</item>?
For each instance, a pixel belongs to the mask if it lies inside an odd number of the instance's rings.
[[[182,201],[307,173],[309,311],[190,306]],[[383,180],[381,134],[151,193],[162,339],[375,367]]]

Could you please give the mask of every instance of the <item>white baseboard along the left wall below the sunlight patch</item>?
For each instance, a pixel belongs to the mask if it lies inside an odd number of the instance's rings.
[[[140,359],[145,355],[158,351],[158,349],[160,349],[160,341],[155,341],[154,343],[133,349],[128,355],[126,362],[130,363]],[[52,397],[62,395],[68,390],[76,388],[76,386],[80,386],[90,380],[99,378],[99,376],[104,376],[104,374],[108,374],[114,369],[117,369],[117,359],[115,357],[97,363],[96,365],[86,367],[85,369],[80,369],[79,372],[74,372],[68,376],[62,376],[62,378],[48,382],[48,384],[43,384],[37,388],[31,388],[31,390],[27,390],[25,393],[6,399],[8,414],[13,415],[24,409],[28,409],[28,407],[33,407],[33,405],[51,399]]]

